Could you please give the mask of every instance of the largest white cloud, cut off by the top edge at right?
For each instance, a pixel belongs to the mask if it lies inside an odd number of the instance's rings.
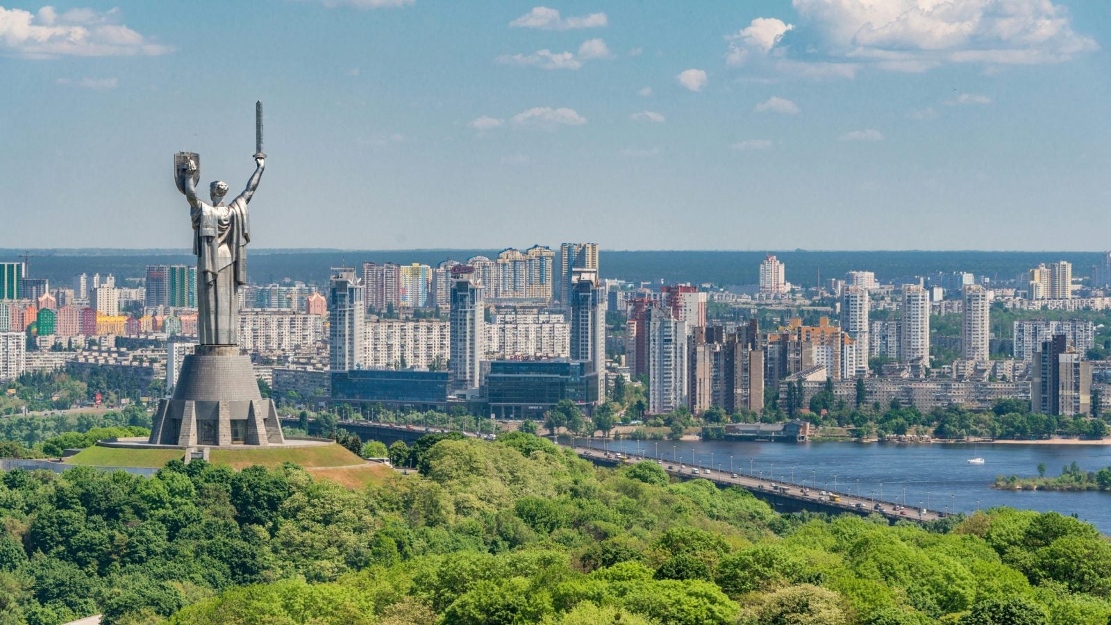
[[[792,0],[822,51],[882,69],[1043,63],[1099,48],[1052,0]]]

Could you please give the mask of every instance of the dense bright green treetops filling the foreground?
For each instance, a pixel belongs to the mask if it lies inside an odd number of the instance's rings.
[[[363,492],[300,468],[0,478],[0,621],[1107,623],[1111,544],[1061,515],[779,515],[523,433],[410,447]]]

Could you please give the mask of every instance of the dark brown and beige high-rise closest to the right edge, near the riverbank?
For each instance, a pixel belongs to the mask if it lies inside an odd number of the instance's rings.
[[[1091,363],[1069,347],[1064,335],[1043,340],[1031,367],[1031,410],[1043,415],[1091,411]]]

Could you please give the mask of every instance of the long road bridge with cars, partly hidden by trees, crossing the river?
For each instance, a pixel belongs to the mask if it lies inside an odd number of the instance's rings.
[[[281,421],[283,425],[298,424],[298,419],[291,417],[281,417]],[[394,440],[403,440],[406,444],[411,444],[426,434],[459,431],[444,427],[426,427],[421,425],[388,424],[362,420],[340,420],[337,423],[337,427],[342,427],[350,433],[358,434],[363,440],[374,439],[380,440],[386,445],[390,445]],[[318,429],[318,427],[316,427],[316,420],[310,421],[310,428]],[[490,435],[479,435],[473,431],[463,431],[462,434],[463,436],[474,438],[490,437]],[[914,520],[921,523],[937,520],[947,516],[947,513],[941,510],[919,508],[917,506],[904,506],[894,502],[872,497],[862,497],[859,495],[851,495],[849,493],[804,488],[798,484],[769,479],[763,476],[758,477],[755,475],[747,475],[740,470],[734,474],[723,472],[720,468],[711,469],[710,467],[691,465],[689,463],[673,463],[663,459],[653,459],[645,456],[629,456],[627,454],[608,452],[595,447],[572,447],[568,445],[560,445],[560,447],[573,449],[580,458],[604,466],[624,466],[633,465],[643,460],[654,460],[660,465],[660,468],[669,475],[680,479],[702,478],[709,479],[721,487],[738,486],[740,488],[744,488],[758,498],[768,502],[777,512],[781,513],[811,510],[830,514],[852,513],[861,516],[879,514],[888,518],[890,522]],[[698,470],[697,474],[694,473],[695,469]],[[824,493],[824,495],[822,495],[822,493]]]

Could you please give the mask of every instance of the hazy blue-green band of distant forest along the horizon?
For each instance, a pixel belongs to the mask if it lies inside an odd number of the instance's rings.
[[[518,249],[531,247],[520,244]],[[558,245],[552,246],[558,251]],[[118,278],[139,277],[147,265],[191,265],[196,257],[167,251],[128,254],[118,251],[80,255],[41,251],[31,254],[28,275],[48,278],[54,285],[69,286],[81,272],[112,274]],[[494,258],[497,249],[412,249],[412,250],[277,250],[251,248],[250,279],[256,284],[281,282],[284,279],[322,285],[328,268],[359,267],[372,262],[421,262],[434,267],[444,260],[466,261],[477,255]],[[0,250],[0,259],[16,260],[19,250]],[[665,284],[692,282],[723,286],[755,285],[759,266],[768,254],[774,254],[787,266],[788,281],[804,287],[830,278],[843,278],[850,270],[874,271],[882,281],[910,279],[935,271],[969,271],[994,280],[1010,280],[1039,262],[1068,260],[1074,276],[1088,276],[1102,254],[1090,251],[714,251],[714,250],[601,250],[601,275],[629,281],[663,280]],[[558,260],[558,259],[557,259]],[[127,286],[120,284],[120,286]]]

